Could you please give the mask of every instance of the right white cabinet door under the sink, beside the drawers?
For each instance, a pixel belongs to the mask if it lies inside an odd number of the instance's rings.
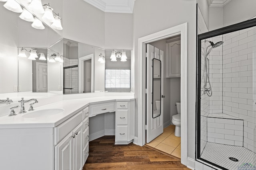
[[[83,138],[82,138],[83,124],[80,123],[73,131],[74,138],[74,170],[82,170],[82,151],[83,151]]]

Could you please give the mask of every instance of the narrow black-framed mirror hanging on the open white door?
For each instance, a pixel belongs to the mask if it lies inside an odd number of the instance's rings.
[[[161,114],[161,61],[153,59],[153,110],[152,117],[156,118]]]

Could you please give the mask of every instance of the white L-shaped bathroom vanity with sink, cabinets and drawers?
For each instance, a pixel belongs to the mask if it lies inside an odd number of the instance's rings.
[[[89,154],[89,117],[107,112],[115,112],[115,143],[134,139],[133,96],[60,100],[35,109],[34,117],[33,112],[0,117],[1,169],[82,170]],[[57,112],[50,115],[51,109]]]

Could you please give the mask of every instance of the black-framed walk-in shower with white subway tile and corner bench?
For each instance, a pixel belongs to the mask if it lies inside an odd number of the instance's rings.
[[[256,166],[256,19],[198,35],[196,161]]]

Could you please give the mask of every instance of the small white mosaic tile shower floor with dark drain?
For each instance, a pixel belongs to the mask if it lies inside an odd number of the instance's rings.
[[[256,154],[244,147],[207,142],[200,157],[229,170],[238,170],[243,163],[256,166]],[[229,157],[238,159],[238,162]]]

